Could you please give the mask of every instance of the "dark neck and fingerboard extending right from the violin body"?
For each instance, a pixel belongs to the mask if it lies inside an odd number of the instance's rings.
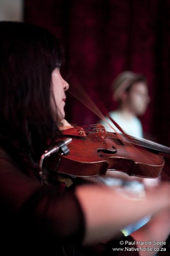
[[[138,146],[143,146],[146,147],[150,150],[154,150],[157,151],[158,153],[164,153],[166,156],[170,155],[170,147],[161,145],[159,143],[147,140],[147,139],[140,139],[140,138],[135,138],[133,136],[130,135],[123,135],[124,137],[124,141],[126,142],[131,142],[134,145],[138,145]],[[168,156],[170,157],[170,156]]]

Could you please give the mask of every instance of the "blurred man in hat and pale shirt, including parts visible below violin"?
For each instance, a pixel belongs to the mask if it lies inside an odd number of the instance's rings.
[[[147,110],[150,102],[148,84],[145,77],[138,73],[125,71],[120,73],[112,83],[113,100],[117,102],[117,109],[109,112],[111,119],[123,129],[125,133],[136,138],[143,138],[142,124],[139,116]],[[120,133],[112,121],[106,117],[106,121],[100,120],[108,132],[114,132],[109,124]],[[106,182],[110,185],[118,185],[136,195],[142,194],[146,186],[158,184],[159,179],[147,179],[130,177],[125,173],[107,172]],[[128,226],[124,231],[128,235],[150,220],[150,216]]]

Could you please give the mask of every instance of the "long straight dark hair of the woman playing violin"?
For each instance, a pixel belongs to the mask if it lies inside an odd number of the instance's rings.
[[[0,142],[40,157],[59,133],[51,109],[51,75],[60,42],[44,28],[0,22]]]

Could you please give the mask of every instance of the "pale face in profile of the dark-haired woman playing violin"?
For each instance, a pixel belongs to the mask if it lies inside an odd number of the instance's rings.
[[[52,108],[54,112],[56,112],[56,106],[57,106],[57,113],[55,113],[55,116],[58,121],[62,121],[65,117],[65,91],[68,90],[69,85],[68,83],[62,78],[60,74],[60,69],[56,68],[52,73]]]

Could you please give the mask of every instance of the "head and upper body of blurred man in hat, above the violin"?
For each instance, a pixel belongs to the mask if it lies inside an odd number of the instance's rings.
[[[148,85],[141,74],[125,71],[120,73],[112,83],[113,99],[117,102],[117,109],[109,116],[129,135],[142,138],[143,130],[138,116],[147,110],[150,102]],[[115,128],[109,118],[107,121]],[[105,121],[101,120],[107,131],[113,132]],[[116,129],[116,128],[115,128]],[[117,129],[116,129],[117,130]]]

